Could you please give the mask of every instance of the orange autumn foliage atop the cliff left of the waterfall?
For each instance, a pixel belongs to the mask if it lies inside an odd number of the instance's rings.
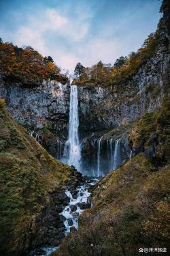
[[[0,72],[25,83],[39,82],[58,75],[60,68],[50,56],[42,57],[31,46],[19,48],[12,43],[0,42]]]

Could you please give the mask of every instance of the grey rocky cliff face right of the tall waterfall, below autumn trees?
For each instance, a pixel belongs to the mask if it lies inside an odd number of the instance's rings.
[[[118,87],[79,87],[80,130],[109,130],[137,120],[145,112],[161,106],[169,92],[167,44],[161,43],[154,57],[133,78]]]

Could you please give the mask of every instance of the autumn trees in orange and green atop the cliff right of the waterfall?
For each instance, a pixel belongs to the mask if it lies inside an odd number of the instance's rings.
[[[99,61],[91,68],[84,68],[79,79],[75,79],[73,83],[107,87],[109,85],[121,85],[127,79],[131,79],[137,73],[137,70],[154,55],[160,42],[160,27],[161,22],[157,31],[148,36],[136,53],[132,52],[129,57],[121,56],[116,59],[114,66],[108,66]]]

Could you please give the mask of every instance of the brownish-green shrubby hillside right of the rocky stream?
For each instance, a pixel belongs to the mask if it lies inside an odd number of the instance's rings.
[[[156,160],[140,152],[109,173],[94,190],[93,207],[52,255],[139,255],[139,248],[168,248],[169,100],[163,108],[143,115],[130,133],[134,147],[144,151],[156,138]],[[154,136],[153,136],[154,135]]]

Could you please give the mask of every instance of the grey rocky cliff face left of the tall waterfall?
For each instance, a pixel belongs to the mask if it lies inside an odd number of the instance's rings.
[[[1,96],[12,117],[30,130],[46,127],[60,137],[67,136],[69,90],[69,83],[63,85],[50,79],[29,88],[1,78]]]

